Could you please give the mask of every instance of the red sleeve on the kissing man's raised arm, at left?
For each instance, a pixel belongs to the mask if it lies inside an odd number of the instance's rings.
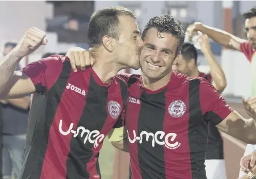
[[[36,87],[36,92],[49,90],[60,76],[63,67],[62,59],[59,55],[53,55],[32,62],[25,66],[21,71],[26,74]]]

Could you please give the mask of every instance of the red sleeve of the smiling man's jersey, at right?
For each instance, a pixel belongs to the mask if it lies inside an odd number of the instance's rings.
[[[214,125],[218,125],[221,121],[225,120],[233,111],[224,98],[204,78],[201,78],[199,95],[204,120],[211,121]]]

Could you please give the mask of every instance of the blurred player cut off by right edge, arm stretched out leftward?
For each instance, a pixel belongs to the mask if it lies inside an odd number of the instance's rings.
[[[200,31],[211,37],[216,43],[225,46],[226,48],[241,51],[245,54],[248,61],[251,63],[251,97],[256,96],[256,7],[253,7],[249,11],[243,14],[245,18],[245,32],[247,40],[238,38],[226,31],[209,27],[201,23],[194,23],[187,28],[187,32],[190,34],[190,40],[193,35]],[[249,147],[250,148],[250,147]],[[253,155],[253,153],[252,153]],[[248,160],[246,162],[246,160]],[[250,163],[250,157],[243,157],[241,163],[241,169],[248,173],[246,169],[251,169],[253,166],[243,165],[244,163]],[[256,173],[255,173],[256,174]]]

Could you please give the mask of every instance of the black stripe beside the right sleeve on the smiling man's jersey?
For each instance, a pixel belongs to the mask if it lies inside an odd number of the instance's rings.
[[[207,179],[204,166],[206,149],[201,148],[207,144],[207,123],[203,120],[200,105],[200,79],[192,79],[189,82],[189,146],[191,169],[193,179]],[[201,166],[201,168],[199,167]],[[197,170],[198,169],[198,170]]]

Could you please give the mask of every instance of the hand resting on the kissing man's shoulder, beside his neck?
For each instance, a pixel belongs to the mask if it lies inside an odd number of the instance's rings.
[[[96,62],[89,51],[79,47],[70,48],[66,56],[70,58],[72,69],[75,72],[77,69],[84,71],[86,67],[94,65]]]

